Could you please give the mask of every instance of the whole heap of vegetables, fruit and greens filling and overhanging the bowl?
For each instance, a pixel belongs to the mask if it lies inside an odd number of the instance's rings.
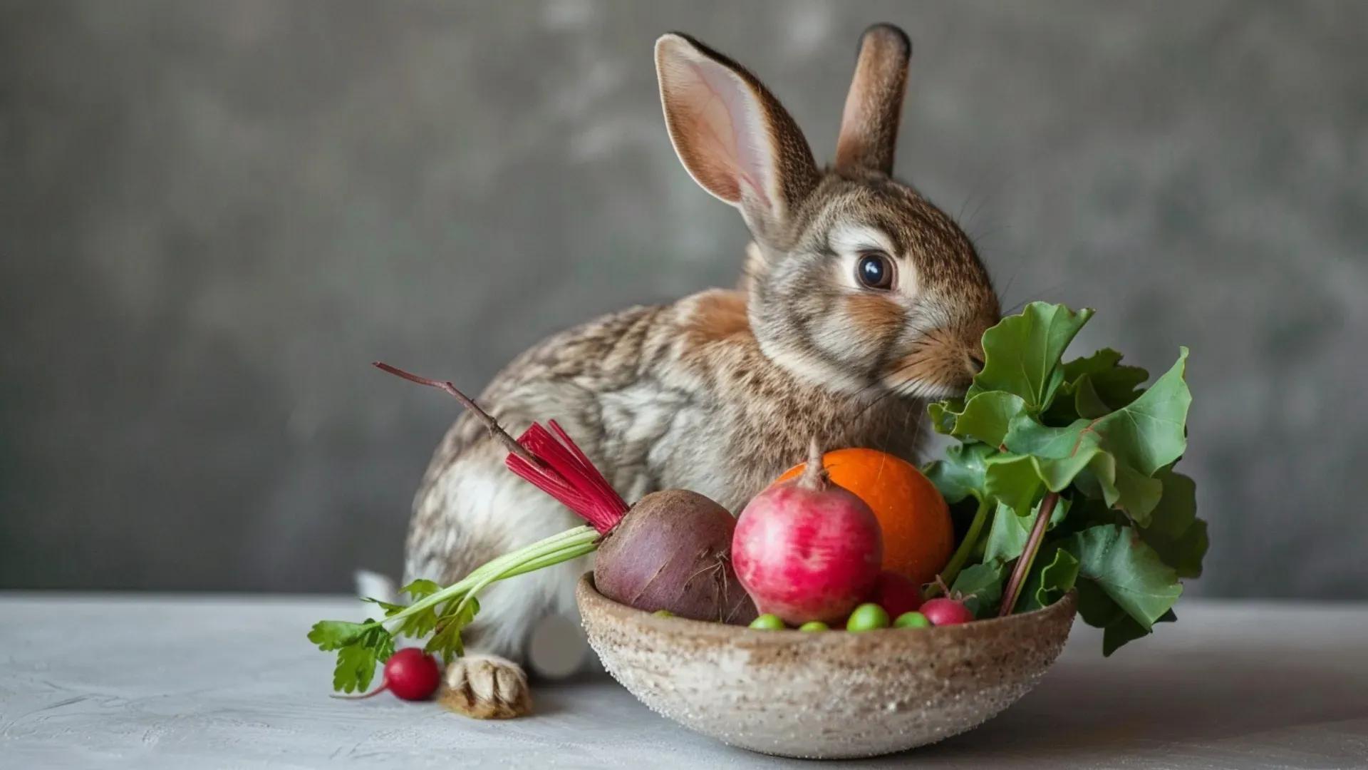
[[[1079,614],[1104,629],[1111,655],[1175,619],[1179,580],[1201,573],[1207,525],[1193,481],[1174,471],[1192,403],[1186,348],[1149,388],[1148,373],[1112,349],[1064,362],[1090,316],[1033,303],[989,329],[966,396],[930,406],[934,429],[958,444],[925,475],[874,449],[824,455],[814,440],[808,460],[736,519],[681,489],[629,507],[554,421],[514,440],[450,382],[378,363],[460,400],[509,449],[509,470],[588,525],[445,588],[413,581],[406,606],[368,599],[383,618],[320,621],[309,640],[337,652],[334,689],[364,691],[390,662],[375,692],[424,697],[436,670],[425,654],[464,654],[461,632],[484,588],[596,549],[595,586],[609,599],[754,629],[925,629],[1036,610],[1077,591]],[[395,652],[395,636],[425,637],[424,652]],[[406,686],[406,671],[421,686]]]

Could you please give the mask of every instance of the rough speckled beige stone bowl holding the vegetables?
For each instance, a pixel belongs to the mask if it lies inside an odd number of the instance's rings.
[[[658,618],[577,589],[590,644],[653,711],[780,756],[892,754],[963,733],[1026,695],[1064,647],[1075,599],[1001,619],[865,633]]]

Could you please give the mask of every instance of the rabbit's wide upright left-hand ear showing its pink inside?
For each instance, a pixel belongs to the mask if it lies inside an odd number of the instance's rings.
[[[683,34],[655,41],[665,125],[699,185],[777,236],[817,186],[817,163],[793,118],[755,75]]]

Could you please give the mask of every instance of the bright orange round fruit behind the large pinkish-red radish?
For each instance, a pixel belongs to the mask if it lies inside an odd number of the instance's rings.
[[[774,480],[788,481],[807,463]],[[832,482],[865,500],[884,529],[884,569],[918,585],[932,582],[955,552],[949,507],[917,466],[878,449],[836,449],[822,455]]]

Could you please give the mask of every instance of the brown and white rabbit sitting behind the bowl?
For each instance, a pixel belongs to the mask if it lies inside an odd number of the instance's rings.
[[[655,42],[670,140],[754,236],[740,290],[635,307],[518,356],[480,397],[509,430],[557,419],[627,500],[694,489],[740,507],[826,447],[915,459],[925,400],[962,392],[997,322],[988,273],[963,232],[891,177],[911,47],[865,32],[836,162],[818,169],[793,119],[755,77],[683,34]],[[579,522],[503,467],[462,417],[415,500],[409,578],[450,582]],[[492,586],[446,701],[479,717],[527,708],[534,625],[573,612],[568,563]]]

